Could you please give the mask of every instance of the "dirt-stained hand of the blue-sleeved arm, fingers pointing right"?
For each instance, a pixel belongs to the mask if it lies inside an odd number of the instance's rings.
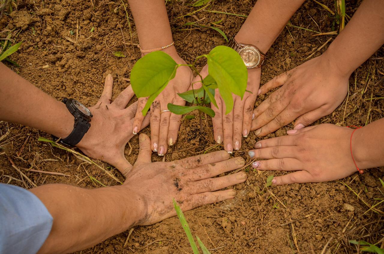
[[[218,151],[173,162],[151,163],[151,140],[139,136],[140,151],[132,167],[127,162],[125,186],[137,201],[140,225],[149,225],[176,215],[172,199],[183,211],[215,203],[236,195],[235,190],[221,190],[246,180],[245,172],[212,178],[244,166],[241,157],[229,159]],[[220,191],[217,191],[220,190]]]

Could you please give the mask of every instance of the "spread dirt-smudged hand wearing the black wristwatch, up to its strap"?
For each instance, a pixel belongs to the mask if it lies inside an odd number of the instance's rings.
[[[103,160],[122,171],[125,169],[127,161],[124,156],[124,148],[134,136],[132,126],[137,102],[126,108],[134,96],[131,86],[124,89],[111,102],[112,87],[113,78],[111,74],[108,74],[99,101],[95,106],[89,107],[93,114],[91,127],[76,146],[86,155]],[[140,130],[148,124],[149,115],[144,118]]]

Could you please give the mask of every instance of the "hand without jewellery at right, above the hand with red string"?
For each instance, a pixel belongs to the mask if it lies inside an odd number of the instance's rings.
[[[252,130],[262,137],[295,120],[301,129],[331,114],[344,100],[348,76],[341,75],[323,54],[276,76],[259,93],[281,86],[253,111]]]

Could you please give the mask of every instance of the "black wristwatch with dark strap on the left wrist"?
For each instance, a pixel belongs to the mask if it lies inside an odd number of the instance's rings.
[[[89,122],[91,122],[93,115],[91,111],[79,101],[64,98],[63,103],[74,116],[74,124],[71,134],[65,139],[61,139],[60,143],[74,147],[84,137],[84,134],[88,132],[89,127],[91,127]],[[55,136],[53,136],[53,138],[58,139]]]

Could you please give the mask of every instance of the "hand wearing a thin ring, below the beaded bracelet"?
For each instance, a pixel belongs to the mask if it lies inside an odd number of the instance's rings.
[[[170,54],[170,56],[176,63],[186,64],[178,55],[174,56]],[[185,105],[185,101],[177,94],[187,91],[192,78],[193,74],[188,66],[177,68],[175,78],[169,81],[166,88],[152,102],[149,111],[151,114],[151,147],[152,151],[157,152],[159,156],[166,154],[168,145],[173,145],[176,142],[177,132],[180,127],[180,119],[182,117],[182,115],[176,115],[169,111],[161,112],[168,110],[168,103],[180,106]],[[133,134],[137,134],[140,130],[140,126],[144,119],[141,111],[147,103],[147,99],[147,97],[139,98],[139,105],[133,124]]]

